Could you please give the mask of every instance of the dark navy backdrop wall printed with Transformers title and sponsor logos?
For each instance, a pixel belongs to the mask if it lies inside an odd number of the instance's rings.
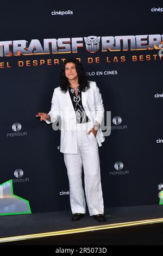
[[[105,208],[159,204],[163,5],[3,0],[0,13],[0,184],[12,179],[32,212],[70,210],[60,131],[36,114],[74,57],[111,112],[99,147]]]

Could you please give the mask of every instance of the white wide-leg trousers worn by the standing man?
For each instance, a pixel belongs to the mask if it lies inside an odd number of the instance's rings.
[[[91,132],[87,134],[87,123],[77,124],[77,154],[65,154],[70,185],[70,204],[72,214],[85,214],[85,197],[82,186],[82,167],[84,169],[85,196],[90,216],[104,214],[103,194],[97,139]]]

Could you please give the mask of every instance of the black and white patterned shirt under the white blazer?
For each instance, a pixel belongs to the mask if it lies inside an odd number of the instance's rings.
[[[68,88],[71,101],[74,107],[74,111],[76,112],[76,123],[82,124],[82,123],[87,123],[90,121],[90,119],[87,117],[85,110],[82,105],[82,90],[77,87],[78,95],[76,96],[75,90],[69,86]]]

